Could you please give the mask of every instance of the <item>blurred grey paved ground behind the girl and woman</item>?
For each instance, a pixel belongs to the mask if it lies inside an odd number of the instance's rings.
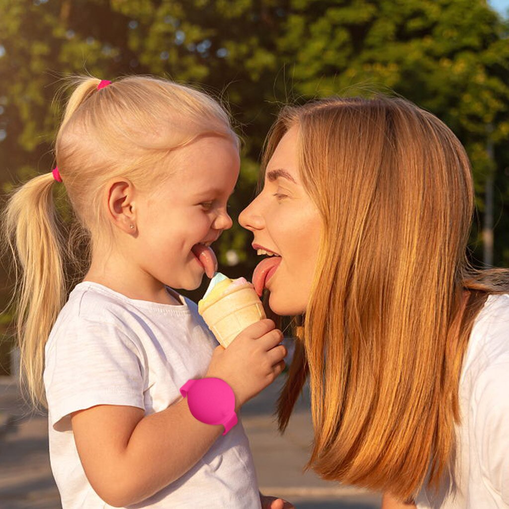
[[[309,398],[306,393],[299,401],[280,436],[271,414],[281,382],[282,377],[241,411],[262,493],[285,497],[297,509],[380,507],[379,495],[302,473],[312,440]],[[0,509],[60,508],[49,466],[47,418],[27,414],[13,379],[0,377]]]

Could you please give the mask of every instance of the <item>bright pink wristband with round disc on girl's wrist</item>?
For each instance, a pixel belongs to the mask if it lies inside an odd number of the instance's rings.
[[[192,416],[206,424],[224,426],[226,435],[236,424],[235,394],[220,378],[188,380],[181,388],[182,397],[187,396],[187,405]]]

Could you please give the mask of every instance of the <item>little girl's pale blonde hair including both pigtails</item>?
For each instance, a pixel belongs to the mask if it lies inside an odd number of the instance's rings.
[[[48,172],[12,192],[2,224],[16,269],[20,381],[35,406],[47,406],[42,375],[49,332],[93,247],[112,238],[100,203],[107,181],[123,177],[153,192],[171,175],[161,162],[195,138],[229,137],[239,146],[228,113],[198,90],[152,76],[127,76],[100,90],[97,78],[72,83],[55,143],[71,220],[65,224],[56,213]]]

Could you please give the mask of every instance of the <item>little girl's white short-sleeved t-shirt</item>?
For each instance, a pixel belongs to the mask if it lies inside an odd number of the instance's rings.
[[[179,298],[182,305],[134,300],[83,281],[62,308],[45,347],[44,385],[50,463],[63,509],[110,507],[83,471],[71,412],[106,404],[138,407],[150,415],[181,400],[179,389],[187,380],[206,375],[218,343],[196,304]],[[241,419],[182,477],[129,507],[260,508]]]

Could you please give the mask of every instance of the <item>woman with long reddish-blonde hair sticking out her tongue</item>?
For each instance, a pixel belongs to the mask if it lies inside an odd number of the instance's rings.
[[[259,293],[301,325],[278,419],[309,376],[306,468],[387,509],[509,507],[509,271],[467,262],[457,137],[400,98],[286,107],[260,182],[239,220],[273,255]]]

